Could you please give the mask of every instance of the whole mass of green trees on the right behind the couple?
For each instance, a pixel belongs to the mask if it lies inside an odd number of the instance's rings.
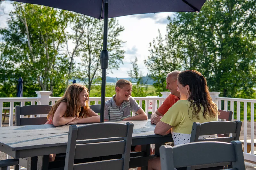
[[[164,90],[169,71],[194,69],[223,97],[255,97],[255,3],[209,0],[199,14],[177,13],[168,19],[165,39],[153,41],[145,61],[157,89]]]

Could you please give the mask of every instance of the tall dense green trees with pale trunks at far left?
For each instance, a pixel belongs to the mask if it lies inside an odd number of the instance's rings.
[[[8,27],[0,29],[1,61],[4,84],[23,77],[24,89],[29,84],[41,90],[61,94],[66,88],[67,55],[60,54],[65,42],[70,12],[50,7],[13,3]]]

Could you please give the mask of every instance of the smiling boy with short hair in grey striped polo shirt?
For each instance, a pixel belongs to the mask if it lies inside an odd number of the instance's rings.
[[[116,94],[105,102],[105,121],[147,120],[148,116],[132,95],[132,83],[120,79],[116,82]],[[137,115],[131,117],[131,111]]]

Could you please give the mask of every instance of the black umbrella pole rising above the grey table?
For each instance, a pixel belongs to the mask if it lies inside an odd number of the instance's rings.
[[[102,69],[101,77],[101,103],[100,103],[100,122],[104,122],[105,110],[105,91],[106,91],[106,69],[108,68],[108,51],[107,51],[107,38],[108,38],[108,2],[104,4],[104,30],[103,30],[103,50],[100,53],[100,66]]]

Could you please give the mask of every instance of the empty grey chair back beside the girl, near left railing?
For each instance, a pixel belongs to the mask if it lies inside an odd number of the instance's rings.
[[[20,118],[20,115],[44,115],[48,114],[51,108],[51,105],[15,106],[15,126],[45,124],[46,117]]]

